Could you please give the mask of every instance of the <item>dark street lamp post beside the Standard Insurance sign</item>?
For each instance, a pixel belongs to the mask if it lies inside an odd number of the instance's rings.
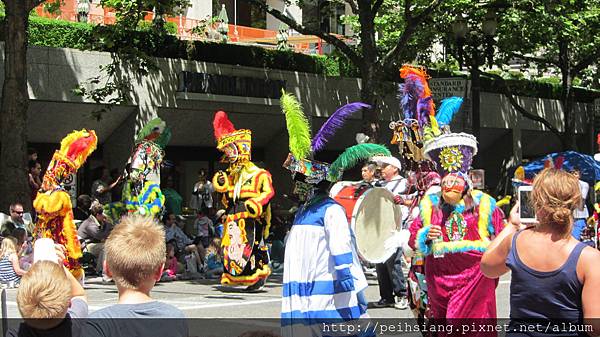
[[[481,118],[480,118],[480,70],[479,67],[483,64],[480,47],[483,47],[485,58],[491,66],[494,57],[494,35],[498,27],[497,16],[494,9],[488,9],[481,29],[479,22],[471,22],[463,15],[458,15],[452,23],[452,33],[456,40],[456,56],[462,68],[464,59],[467,58],[469,72],[471,74],[471,114],[472,114],[472,132],[479,139]],[[467,52],[465,53],[465,49]],[[465,56],[466,54],[466,56]]]

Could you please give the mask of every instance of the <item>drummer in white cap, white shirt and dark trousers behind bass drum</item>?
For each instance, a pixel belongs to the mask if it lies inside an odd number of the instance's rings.
[[[373,157],[372,160],[379,165],[383,178],[377,185],[388,189],[394,194],[394,201],[403,208],[402,220],[404,222],[409,213],[408,207],[403,204],[407,197],[408,180],[400,175],[400,170],[402,170],[400,160],[392,156],[377,156]],[[406,280],[402,272],[402,248],[398,248],[396,253],[384,263],[376,264],[375,268],[381,298],[373,306],[376,308],[395,307],[400,310],[407,309]],[[395,297],[398,297],[398,301]]]

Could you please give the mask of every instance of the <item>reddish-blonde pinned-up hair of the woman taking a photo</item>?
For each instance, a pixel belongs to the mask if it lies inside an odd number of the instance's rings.
[[[547,168],[533,180],[531,203],[542,226],[567,233],[573,222],[573,210],[581,202],[579,180],[570,173]]]

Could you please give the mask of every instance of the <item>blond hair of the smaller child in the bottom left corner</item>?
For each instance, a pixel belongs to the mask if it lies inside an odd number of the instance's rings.
[[[64,268],[50,261],[34,263],[17,291],[19,312],[29,319],[64,318],[70,299],[71,284]]]

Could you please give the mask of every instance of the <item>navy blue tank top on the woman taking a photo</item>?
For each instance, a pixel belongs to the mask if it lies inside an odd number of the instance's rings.
[[[571,327],[582,326],[583,322],[583,284],[577,278],[576,268],[581,251],[586,245],[577,243],[560,268],[541,272],[529,268],[519,258],[516,242],[520,233],[521,231],[518,231],[513,236],[512,246],[506,258],[506,265],[512,271],[509,325],[513,332],[520,332],[510,335],[580,336],[580,332],[571,331]],[[534,322],[542,324],[543,329],[525,332],[524,330],[531,330],[528,327]],[[524,325],[526,329],[523,328]]]

